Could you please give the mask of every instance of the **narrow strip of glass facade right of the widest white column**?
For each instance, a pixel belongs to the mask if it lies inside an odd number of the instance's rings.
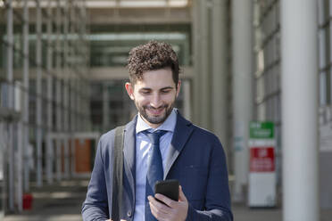
[[[318,1],[319,82],[320,82],[320,205],[332,208],[332,1]]]

